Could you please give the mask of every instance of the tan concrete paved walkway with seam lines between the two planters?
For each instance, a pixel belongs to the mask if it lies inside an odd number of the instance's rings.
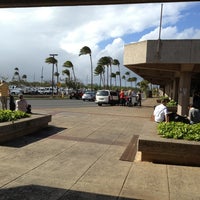
[[[133,135],[158,137],[154,104],[33,111],[53,120],[0,146],[0,200],[200,200],[200,168],[120,160]]]

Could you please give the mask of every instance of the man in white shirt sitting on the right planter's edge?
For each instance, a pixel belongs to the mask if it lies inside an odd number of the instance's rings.
[[[166,104],[167,101],[163,99],[161,104],[155,107],[153,112],[155,122],[169,122]]]

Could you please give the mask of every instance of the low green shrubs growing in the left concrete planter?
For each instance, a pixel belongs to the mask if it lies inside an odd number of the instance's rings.
[[[30,114],[27,114],[19,110],[18,111],[0,110],[0,122],[15,121],[26,117],[30,117]]]

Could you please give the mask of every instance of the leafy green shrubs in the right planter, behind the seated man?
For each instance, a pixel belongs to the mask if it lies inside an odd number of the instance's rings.
[[[158,124],[158,134],[164,138],[200,141],[200,123],[162,122]]]

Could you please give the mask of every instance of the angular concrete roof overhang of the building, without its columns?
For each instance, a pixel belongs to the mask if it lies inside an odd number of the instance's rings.
[[[147,40],[125,45],[124,66],[145,80],[166,85],[183,71],[200,73],[200,40]]]

